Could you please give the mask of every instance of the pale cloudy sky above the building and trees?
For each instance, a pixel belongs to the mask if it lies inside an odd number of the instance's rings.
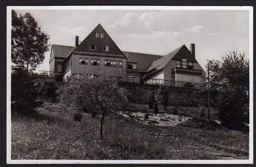
[[[100,23],[121,51],[166,55],[195,43],[196,60],[238,51],[249,59],[248,10],[16,10],[29,12],[50,44],[75,45]],[[49,70],[50,51],[38,70]]]

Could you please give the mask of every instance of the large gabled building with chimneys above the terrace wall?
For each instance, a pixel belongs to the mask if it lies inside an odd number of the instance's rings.
[[[139,78],[143,83],[202,83],[204,74],[193,43],[190,51],[182,45],[165,56],[125,52],[100,24],[80,43],[76,36],[75,46],[52,44],[49,63],[50,71],[62,73],[63,81],[74,74],[91,74]]]

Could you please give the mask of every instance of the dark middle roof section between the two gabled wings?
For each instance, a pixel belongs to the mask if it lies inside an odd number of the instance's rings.
[[[135,53],[135,52],[126,52],[122,51],[126,56],[127,61],[136,62],[137,69],[140,71],[146,71],[151,64],[157,59],[163,57],[161,55],[152,55],[152,54],[144,54],[144,53]]]

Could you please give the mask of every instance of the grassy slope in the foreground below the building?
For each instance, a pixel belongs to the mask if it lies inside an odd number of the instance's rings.
[[[122,123],[109,117],[101,142],[99,121],[88,114],[83,115],[81,123],[73,123],[71,109],[41,109],[40,113],[36,119],[12,118],[12,159],[218,159],[212,151],[233,157],[237,157],[234,153],[248,154],[248,134],[238,131],[158,127],[172,133],[177,141],[154,139],[138,128],[139,123]]]

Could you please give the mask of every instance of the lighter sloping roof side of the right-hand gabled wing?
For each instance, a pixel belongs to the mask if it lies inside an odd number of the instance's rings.
[[[179,50],[182,47],[186,47],[185,45],[182,45],[180,47],[178,47],[176,50],[170,52],[169,54],[161,57],[158,60],[155,60],[152,65],[146,70],[146,71],[150,71],[154,68],[156,68],[157,70],[162,69],[170,60],[172,60],[172,58],[179,52]]]

